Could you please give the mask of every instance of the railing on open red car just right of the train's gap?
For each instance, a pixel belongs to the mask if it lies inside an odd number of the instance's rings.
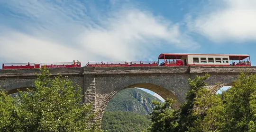
[[[120,62],[88,62],[85,66],[128,66],[129,63],[125,61]]]

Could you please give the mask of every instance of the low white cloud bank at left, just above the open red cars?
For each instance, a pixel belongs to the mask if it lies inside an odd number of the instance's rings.
[[[2,28],[3,29],[3,28]],[[71,62],[76,58],[78,49],[68,48],[53,41],[41,40],[17,31],[5,30],[0,36],[0,56],[18,62]]]

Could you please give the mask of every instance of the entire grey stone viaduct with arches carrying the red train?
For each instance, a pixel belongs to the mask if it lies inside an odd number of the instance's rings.
[[[162,96],[164,99],[176,99],[177,108],[185,101],[185,93],[190,89],[188,79],[196,75],[210,74],[206,80],[209,87],[232,85],[239,72],[256,73],[256,66],[147,66],[147,67],[73,67],[51,68],[50,73],[68,76],[83,88],[83,102],[93,102],[99,110],[98,120],[110,99],[119,91],[127,88],[145,88]],[[0,69],[0,89],[11,93],[17,89],[33,88],[35,72],[39,69]]]

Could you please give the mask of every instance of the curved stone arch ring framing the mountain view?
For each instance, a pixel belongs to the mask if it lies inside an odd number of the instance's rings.
[[[128,89],[128,88],[134,88],[134,87],[139,87],[139,88],[144,88],[144,89],[154,91],[164,99],[167,99],[167,98],[175,99],[176,102],[172,106],[174,109],[178,109],[181,106],[181,102],[184,101],[184,99],[181,99],[180,95],[185,92],[176,93],[175,88],[178,86],[170,86],[170,84],[166,83],[165,80],[162,81],[159,78],[153,78],[153,77],[147,77],[146,79],[137,79],[137,78],[129,79],[126,82],[119,83],[117,86],[115,86],[113,91],[96,95],[97,101],[101,101],[100,105],[99,105],[99,102],[96,101],[97,110],[99,110],[97,120],[101,121],[105,108],[107,107],[110,99],[112,99],[119,91]],[[186,91],[186,89],[184,89],[184,91]]]

